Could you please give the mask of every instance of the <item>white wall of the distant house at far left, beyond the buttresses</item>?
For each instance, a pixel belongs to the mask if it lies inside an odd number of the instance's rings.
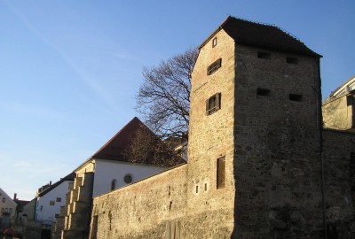
[[[48,225],[51,225],[56,220],[55,214],[59,214],[60,207],[66,204],[68,183],[69,181],[63,181],[55,189],[51,189],[50,192],[43,195],[43,197],[37,198],[36,220]],[[61,202],[57,202],[57,197],[61,198]],[[50,201],[54,201],[54,205],[50,205]]]

